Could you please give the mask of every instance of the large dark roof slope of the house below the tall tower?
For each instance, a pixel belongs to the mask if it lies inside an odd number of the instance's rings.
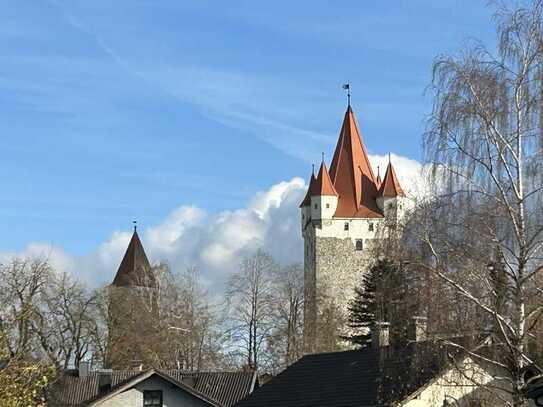
[[[403,400],[446,365],[437,344],[304,356],[236,407],[364,407]]]

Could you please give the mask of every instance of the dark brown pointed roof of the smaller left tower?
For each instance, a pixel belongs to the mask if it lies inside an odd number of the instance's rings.
[[[115,287],[156,287],[155,276],[135,227],[111,285]]]

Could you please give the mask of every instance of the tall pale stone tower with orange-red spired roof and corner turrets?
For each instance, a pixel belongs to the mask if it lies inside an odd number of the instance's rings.
[[[386,222],[402,215],[404,198],[391,163],[382,182],[374,176],[349,105],[330,172],[323,160],[300,204],[306,352],[338,349],[348,302],[372,262],[369,248]]]

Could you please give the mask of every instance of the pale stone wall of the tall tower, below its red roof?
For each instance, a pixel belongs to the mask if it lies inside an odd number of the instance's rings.
[[[371,265],[371,248],[383,226],[383,219],[334,219],[313,221],[304,230],[306,352],[339,349],[338,338],[348,333],[349,301]],[[356,250],[357,240],[362,250]]]

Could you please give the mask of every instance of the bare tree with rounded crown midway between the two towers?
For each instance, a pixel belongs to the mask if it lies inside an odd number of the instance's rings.
[[[262,250],[246,257],[230,277],[229,334],[247,367],[258,369],[273,328],[273,259]]]

